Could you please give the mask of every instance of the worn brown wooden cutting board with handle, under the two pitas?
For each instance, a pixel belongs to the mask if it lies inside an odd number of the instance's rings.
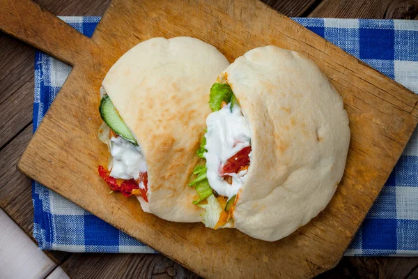
[[[114,0],[93,38],[29,0],[0,0],[0,29],[73,68],[24,152],[19,168],[95,216],[206,278],[309,278],[334,266],[376,199],[417,125],[416,96],[385,75],[256,0]],[[192,36],[229,61],[277,45],[318,63],[343,96],[351,142],[332,201],[308,225],[273,243],[236,229],[170,223],[109,189],[98,140],[100,83],[113,63],[148,38]]]

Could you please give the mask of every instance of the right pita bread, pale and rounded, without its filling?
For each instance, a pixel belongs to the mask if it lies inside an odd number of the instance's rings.
[[[343,176],[350,142],[343,100],[313,61],[274,46],[240,56],[219,82],[231,86],[251,130],[235,228],[277,241],[322,211]]]

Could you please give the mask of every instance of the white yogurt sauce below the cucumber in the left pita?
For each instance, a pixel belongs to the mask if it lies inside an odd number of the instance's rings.
[[[137,180],[141,172],[146,172],[146,161],[141,147],[131,144],[123,137],[111,137],[109,144],[113,156],[110,176]],[[144,184],[141,183],[139,187],[144,189]]]

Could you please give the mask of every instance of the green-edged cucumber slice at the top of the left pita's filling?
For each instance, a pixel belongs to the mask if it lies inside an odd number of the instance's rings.
[[[102,100],[100,100],[99,112],[103,121],[107,123],[107,126],[109,126],[111,130],[114,130],[116,134],[120,135],[128,142],[138,145],[137,140],[135,140],[134,135],[132,135],[125,122],[123,122],[108,95],[104,95]]]

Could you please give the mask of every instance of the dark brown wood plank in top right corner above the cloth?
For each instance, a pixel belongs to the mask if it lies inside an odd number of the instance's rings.
[[[418,1],[323,0],[309,17],[417,19]]]

